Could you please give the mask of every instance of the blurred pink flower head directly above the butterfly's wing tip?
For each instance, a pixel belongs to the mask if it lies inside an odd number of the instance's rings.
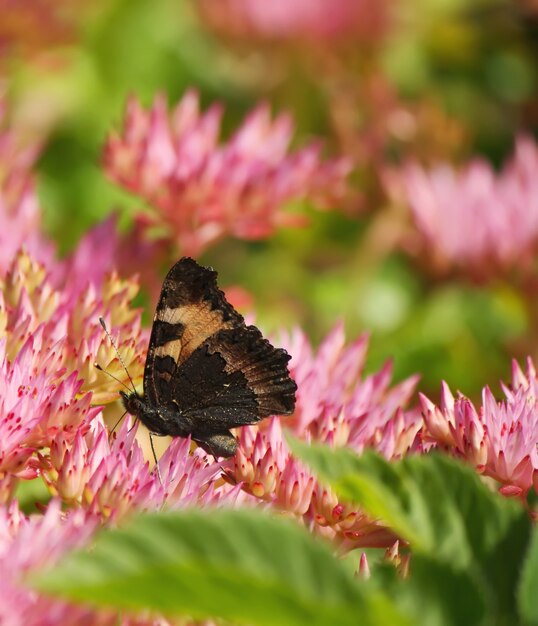
[[[271,120],[261,105],[219,144],[221,116],[218,105],[201,113],[194,91],[171,114],[162,97],[149,111],[132,98],[123,134],[111,134],[105,147],[110,178],[151,205],[153,227],[183,254],[197,256],[226,235],[260,239],[300,224],[283,210],[291,201],[332,206],[341,197],[349,163],[322,163],[314,143],[288,154],[288,116]]]

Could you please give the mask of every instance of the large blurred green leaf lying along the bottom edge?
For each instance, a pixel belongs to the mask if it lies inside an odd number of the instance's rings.
[[[142,515],[33,582],[94,605],[238,624],[409,624],[322,540],[255,510]]]

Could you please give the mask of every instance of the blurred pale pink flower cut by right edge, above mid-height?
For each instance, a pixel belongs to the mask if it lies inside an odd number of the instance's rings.
[[[529,270],[538,243],[538,146],[519,138],[501,172],[474,159],[455,171],[408,164],[386,173],[389,192],[409,205],[420,248],[441,271],[478,277]],[[416,251],[416,250],[415,250]]]

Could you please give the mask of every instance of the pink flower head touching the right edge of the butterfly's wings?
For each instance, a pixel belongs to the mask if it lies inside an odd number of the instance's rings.
[[[295,330],[283,340],[292,354],[290,369],[297,382],[297,404],[290,426],[300,437],[336,446],[365,447],[400,456],[418,445],[422,421],[415,413],[400,411],[415,390],[413,376],[391,387],[390,363],[363,376],[368,337],[346,345],[342,324],[337,324],[314,354],[308,339]],[[385,435],[389,435],[390,441]],[[403,437],[396,441],[394,437]],[[392,443],[391,443],[392,442]],[[388,454],[392,458],[393,454]]]

